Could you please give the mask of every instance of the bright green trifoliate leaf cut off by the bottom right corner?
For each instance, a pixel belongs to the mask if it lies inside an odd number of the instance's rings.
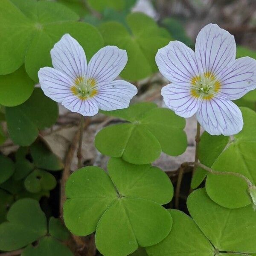
[[[256,252],[256,212],[250,206],[221,207],[205,189],[192,192],[187,206],[192,218],[170,210],[172,230],[159,244],[147,248],[148,256],[248,256]]]

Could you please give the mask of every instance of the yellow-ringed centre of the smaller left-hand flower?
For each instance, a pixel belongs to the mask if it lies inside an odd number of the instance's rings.
[[[97,93],[97,90],[94,88],[95,84],[96,81],[93,78],[85,79],[84,77],[77,77],[74,85],[70,89],[79,99],[84,100]]]

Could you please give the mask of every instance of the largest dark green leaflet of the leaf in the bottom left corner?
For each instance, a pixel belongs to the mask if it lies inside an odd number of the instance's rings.
[[[16,250],[47,233],[46,217],[37,201],[24,198],[16,201],[0,224],[0,250]]]

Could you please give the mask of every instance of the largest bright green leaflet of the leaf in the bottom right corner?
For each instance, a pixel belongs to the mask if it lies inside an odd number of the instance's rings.
[[[218,251],[256,252],[256,212],[251,206],[227,209],[215,204],[205,189],[189,195],[189,213]]]

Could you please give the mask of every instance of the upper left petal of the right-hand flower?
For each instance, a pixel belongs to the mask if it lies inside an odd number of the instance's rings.
[[[160,73],[174,84],[191,84],[192,77],[200,73],[195,52],[179,41],[159,49],[155,60]]]

